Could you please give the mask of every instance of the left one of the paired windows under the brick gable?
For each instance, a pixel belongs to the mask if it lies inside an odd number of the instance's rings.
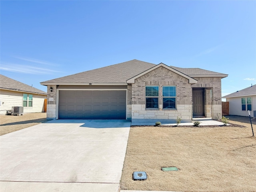
[[[158,86],[146,86],[146,108],[158,108]]]

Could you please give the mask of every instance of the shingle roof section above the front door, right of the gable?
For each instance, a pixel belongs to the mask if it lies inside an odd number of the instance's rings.
[[[226,74],[218,73],[214,71],[208,71],[200,68],[180,68],[180,67],[174,67],[170,66],[171,68],[174,68],[188,76],[202,76],[202,75],[216,75],[216,76],[225,76]]]

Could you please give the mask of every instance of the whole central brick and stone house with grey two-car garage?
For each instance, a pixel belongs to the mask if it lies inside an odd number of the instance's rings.
[[[227,76],[131,60],[41,84],[48,86],[50,119],[175,122],[179,116],[191,122],[222,113],[221,79]]]

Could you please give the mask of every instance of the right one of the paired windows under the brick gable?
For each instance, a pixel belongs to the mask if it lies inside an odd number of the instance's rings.
[[[176,109],[176,86],[163,86],[163,109]]]

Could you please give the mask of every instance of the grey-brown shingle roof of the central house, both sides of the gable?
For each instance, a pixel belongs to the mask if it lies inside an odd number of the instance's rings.
[[[126,83],[126,80],[141,74],[142,72],[156,66],[156,64],[130,60],[94,70],[89,70],[61,78],[41,82],[42,85],[57,84],[86,84],[86,83]],[[227,76],[226,74],[203,70],[199,68],[178,68],[170,66],[188,76]]]

